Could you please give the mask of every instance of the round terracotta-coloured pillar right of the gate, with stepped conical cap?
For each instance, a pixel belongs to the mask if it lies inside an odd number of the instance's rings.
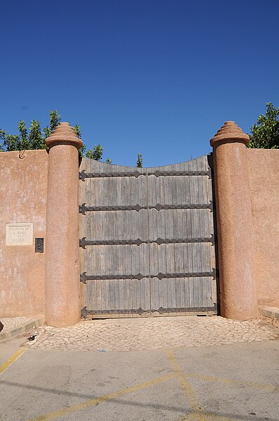
[[[246,145],[249,136],[226,122],[213,146],[221,316],[259,316],[254,278],[252,205]]]

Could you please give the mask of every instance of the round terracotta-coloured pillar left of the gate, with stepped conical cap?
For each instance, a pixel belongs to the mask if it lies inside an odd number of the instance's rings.
[[[80,318],[79,148],[81,139],[61,123],[46,139],[46,323],[74,325]]]

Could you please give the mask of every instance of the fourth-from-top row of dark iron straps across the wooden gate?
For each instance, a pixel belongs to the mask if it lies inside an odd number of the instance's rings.
[[[216,269],[213,268],[211,272],[189,272],[189,273],[157,273],[157,275],[150,275],[150,278],[170,279],[170,278],[207,278],[212,276],[216,279]],[[142,280],[143,278],[149,278],[148,275],[87,275],[87,272],[80,274],[80,280],[82,283],[87,283],[87,280],[117,280],[117,279],[137,279]]]

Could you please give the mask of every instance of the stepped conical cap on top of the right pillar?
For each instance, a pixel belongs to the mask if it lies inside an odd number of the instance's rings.
[[[235,122],[225,122],[224,126],[217,131],[217,134],[210,139],[210,145],[216,146],[219,143],[239,142],[247,145],[250,138],[243,132]]]

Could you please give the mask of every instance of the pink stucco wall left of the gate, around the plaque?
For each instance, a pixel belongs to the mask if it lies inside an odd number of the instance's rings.
[[[0,153],[0,316],[42,316],[45,252],[34,238],[46,234],[48,153]],[[33,223],[33,245],[6,245],[6,224]]]

